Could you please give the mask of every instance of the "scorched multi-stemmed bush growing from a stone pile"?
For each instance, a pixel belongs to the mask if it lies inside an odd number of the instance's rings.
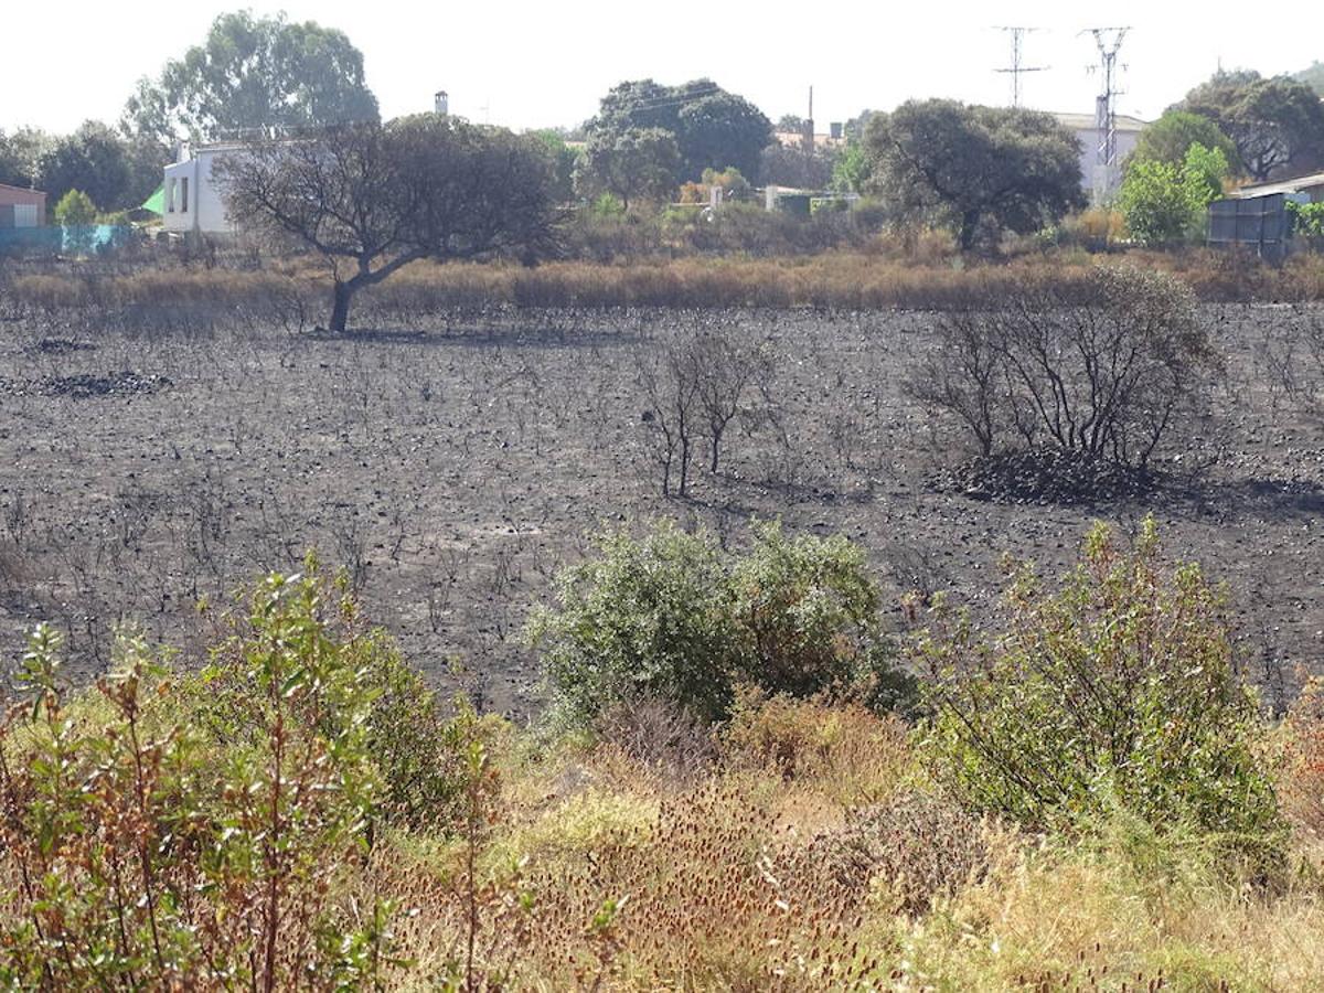
[[[1198,433],[1221,369],[1192,293],[1161,273],[1096,266],[1078,281],[1022,277],[939,322],[910,389],[981,454],[1049,446],[1144,469]]]

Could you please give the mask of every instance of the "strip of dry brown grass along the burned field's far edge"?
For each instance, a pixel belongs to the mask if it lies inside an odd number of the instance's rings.
[[[1210,252],[1129,253],[1143,266],[1173,271],[1206,301],[1300,302],[1324,299],[1324,258],[1301,256],[1274,269]],[[858,253],[790,258],[678,258],[624,265],[551,262],[436,265],[417,262],[363,295],[360,311],[387,318],[454,308],[518,307],[830,307],[943,308],[1026,277],[1062,282],[1095,263],[1083,252],[1025,256],[1000,265],[964,265],[941,256],[923,261]],[[326,306],[324,270],[311,260],[262,269],[143,269],[16,274],[9,298],[45,311],[68,308],[261,307],[297,298],[311,312]]]

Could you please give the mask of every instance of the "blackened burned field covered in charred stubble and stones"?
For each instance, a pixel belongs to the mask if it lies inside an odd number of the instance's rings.
[[[972,467],[907,387],[932,314],[504,310],[346,336],[15,316],[0,646],[16,658],[50,620],[86,678],[115,625],[188,643],[240,583],[315,547],[438,686],[531,712],[526,614],[604,526],[670,515],[740,543],[751,516],[781,516],[859,542],[896,601],[948,589],[978,613],[1006,553],[1063,565],[1091,519],[1153,512],[1172,552],[1227,581],[1249,675],[1276,703],[1296,666],[1324,669],[1324,395],[1300,338],[1319,316],[1204,307],[1226,367],[1217,430],[1144,486],[1103,479],[1102,498],[1088,473],[1057,493],[1016,459]],[[663,496],[659,375],[696,332],[761,363],[718,471],[704,438],[685,495],[677,451]]]

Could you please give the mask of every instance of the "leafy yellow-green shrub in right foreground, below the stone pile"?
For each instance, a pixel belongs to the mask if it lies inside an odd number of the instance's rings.
[[[1096,526],[1061,592],[1018,567],[1002,613],[985,634],[939,598],[916,647],[928,747],[956,796],[1033,828],[1115,802],[1250,843],[1279,831],[1222,594],[1196,565],[1161,567],[1152,519],[1129,552]]]

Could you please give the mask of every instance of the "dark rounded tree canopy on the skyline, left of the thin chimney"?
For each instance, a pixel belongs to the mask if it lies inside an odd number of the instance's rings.
[[[589,138],[661,128],[675,138],[681,181],[696,181],[706,168],[759,172],[759,156],[772,142],[772,122],[743,97],[711,79],[663,86],[637,79],[614,86],[588,124]]]

